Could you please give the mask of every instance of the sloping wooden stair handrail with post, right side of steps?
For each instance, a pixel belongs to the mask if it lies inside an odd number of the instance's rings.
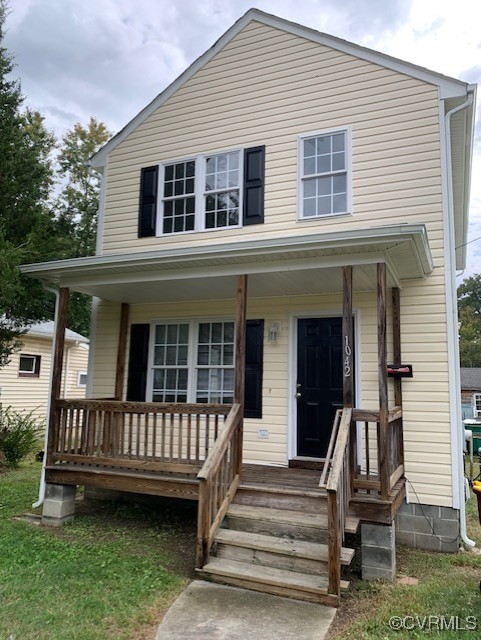
[[[323,472],[319,483],[319,486],[324,486],[327,490],[328,592],[338,598],[341,594],[341,550],[351,499],[351,422],[351,408],[336,411],[333,429],[333,433],[336,433],[334,438],[331,437],[331,442],[335,445],[332,445],[332,458],[329,458],[329,462],[326,459],[325,465],[329,467],[327,482],[326,474]]]

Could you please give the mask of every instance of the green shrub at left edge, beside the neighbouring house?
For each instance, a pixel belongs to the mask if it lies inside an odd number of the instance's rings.
[[[7,467],[17,467],[22,458],[32,453],[40,437],[40,428],[30,413],[14,411],[0,404],[0,452]]]

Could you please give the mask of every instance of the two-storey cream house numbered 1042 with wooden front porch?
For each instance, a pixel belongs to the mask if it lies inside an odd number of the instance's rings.
[[[23,267],[60,287],[59,330],[69,289],[94,297],[44,521],[78,484],[198,499],[203,575],[331,603],[360,521],[367,578],[395,536],[456,550],[474,97],[250,10],[112,138],[97,255]]]

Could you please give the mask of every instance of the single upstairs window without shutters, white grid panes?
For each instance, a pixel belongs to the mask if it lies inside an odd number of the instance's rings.
[[[348,131],[300,138],[300,218],[350,213]]]

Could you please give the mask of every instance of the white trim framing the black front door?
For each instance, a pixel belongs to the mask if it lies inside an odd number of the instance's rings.
[[[354,404],[361,406],[362,388],[360,376],[361,352],[361,310],[353,309],[354,316],[354,380],[355,380],[355,400]],[[297,321],[301,318],[342,318],[342,311],[339,309],[292,311],[289,313],[289,352],[288,352],[288,380],[287,380],[287,461],[293,460],[297,456],[297,402],[296,402],[296,379],[297,379]],[[361,442],[358,438],[358,448]],[[361,460],[362,452],[358,451],[358,460]]]

